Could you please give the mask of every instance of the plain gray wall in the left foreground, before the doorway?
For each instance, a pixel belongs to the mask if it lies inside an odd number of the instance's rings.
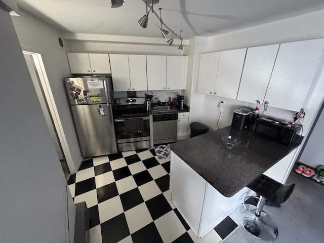
[[[68,242],[66,182],[8,12],[0,7],[0,242]],[[70,239],[74,205],[68,193]]]

